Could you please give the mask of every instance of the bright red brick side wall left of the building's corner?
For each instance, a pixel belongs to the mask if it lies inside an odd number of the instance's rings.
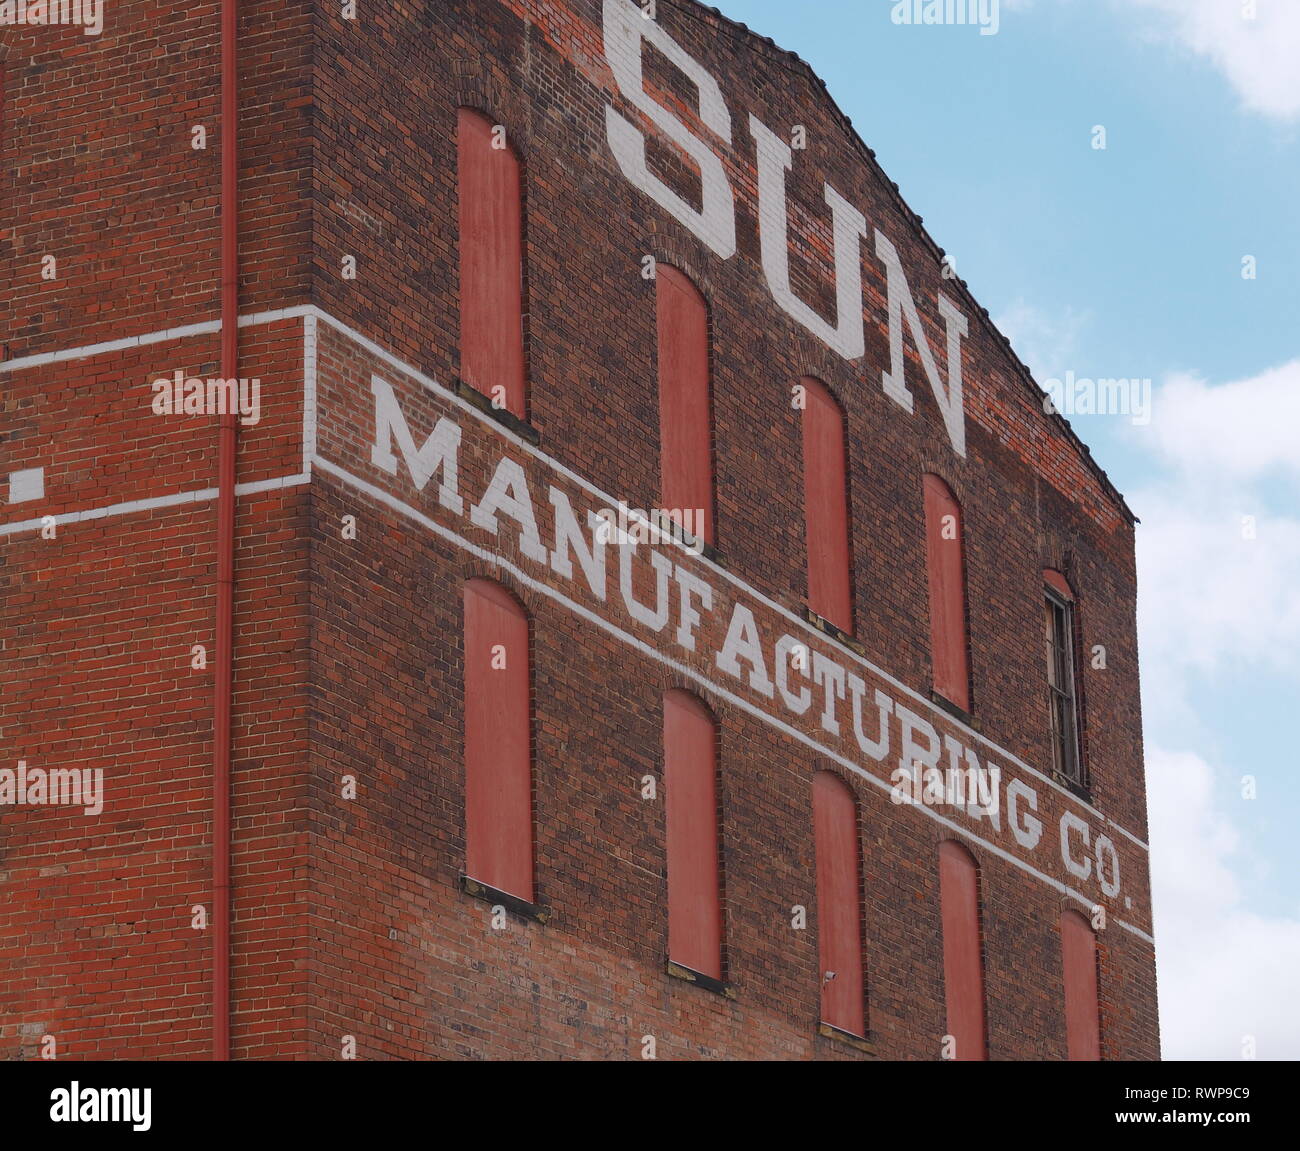
[[[306,295],[313,5],[242,8],[255,311]],[[0,29],[0,748],[9,769],[104,773],[99,815],[0,809],[0,1057],[38,1057],[48,1035],[58,1057],[203,1059],[217,434],[216,419],[155,415],[150,384],[217,375],[220,5],[104,10],[99,36]],[[205,330],[174,330],[188,325]],[[300,471],[302,355],[300,320],[243,337],[263,412],[242,429],[240,481]],[[44,498],[9,503],[9,473],[36,467]],[[304,1012],[306,509],[290,486],[238,511],[234,1035],[264,1057],[295,1052]]]

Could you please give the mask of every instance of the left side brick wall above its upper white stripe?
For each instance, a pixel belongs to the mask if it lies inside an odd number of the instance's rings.
[[[242,0],[240,304],[304,299],[311,0]],[[0,27],[3,358],[214,319],[217,0],[104,4],[104,30]],[[192,129],[207,147],[191,147]],[[42,256],[58,278],[42,278]]]

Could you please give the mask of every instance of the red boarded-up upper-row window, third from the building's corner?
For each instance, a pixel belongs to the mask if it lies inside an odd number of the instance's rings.
[[[803,523],[809,550],[809,607],[840,631],[853,631],[849,494],[844,414],[820,380],[805,376]]]

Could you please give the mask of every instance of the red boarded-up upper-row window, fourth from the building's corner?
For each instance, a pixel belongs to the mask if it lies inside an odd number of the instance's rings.
[[[970,711],[970,675],[966,668],[966,558],[962,509],[948,485],[935,475],[924,477],[926,567],[930,572],[930,650],[935,691],[948,702]]]

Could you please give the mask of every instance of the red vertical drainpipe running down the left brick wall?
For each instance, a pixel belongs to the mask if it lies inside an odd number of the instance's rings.
[[[239,376],[238,0],[221,0],[221,378]],[[212,762],[212,1057],[230,1057],[230,719],[234,691],[237,414],[221,416]]]

